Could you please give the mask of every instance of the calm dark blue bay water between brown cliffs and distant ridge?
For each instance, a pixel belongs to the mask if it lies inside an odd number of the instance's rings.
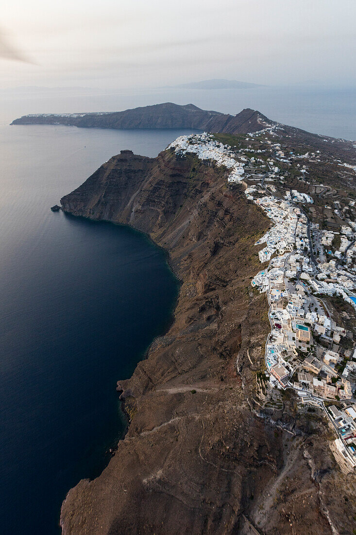
[[[120,149],[154,156],[181,133],[0,128],[2,535],[58,532],[66,492],[124,430],[116,381],[177,294],[145,236],[49,207]]]

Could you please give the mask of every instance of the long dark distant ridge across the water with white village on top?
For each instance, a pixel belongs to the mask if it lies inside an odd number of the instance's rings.
[[[246,108],[237,115],[207,111],[194,104],[180,106],[172,102],[105,113],[65,113],[25,115],[12,125],[68,125],[81,128],[194,128],[207,132],[245,134],[256,132],[270,121],[259,111]]]

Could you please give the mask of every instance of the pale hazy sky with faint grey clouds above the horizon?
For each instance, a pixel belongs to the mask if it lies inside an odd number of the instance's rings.
[[[11,0],[0,87],[354,85],[355,0]]]

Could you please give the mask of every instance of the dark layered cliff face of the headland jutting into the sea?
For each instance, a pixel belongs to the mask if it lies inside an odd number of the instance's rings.
[[[145,158],[123,150],[63,197],[61,204],[74,215],[128,223],[147,233],[158,231],[194,184],[194,179],[185,180],[190,167],[186,159]]]

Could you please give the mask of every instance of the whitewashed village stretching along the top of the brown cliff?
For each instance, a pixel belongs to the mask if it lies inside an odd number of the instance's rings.
[[[266,131],[273,135],[276,128]],[[274,154],[267,161],[259,156],[264,149],[236,151],[206,133],[181,136],[169,148],[225,166],[230,171],[228,183],[243,183],[246,197],[272,220],[256,243],[264,245],[258,255],[266,266],[251,281],[252,288],[266,293],[269,305],[265,377],[270,388],[293,389],[301,405],[320,407],[338,437],[330,446],[332,452],[340,468],[352,472],[356,470],[356,348],[352,333],[332,318],[325,298],[337,297],[356,309],[354,225],[345,221],[338,231],[321,229],[305,210],[306,204],[313,204],[311,195],[288,188],[281,195],[283,179],[277,164],[290,165],[300,155],[285,157],[278,143],[266,140],[266,144]],[[312,157],[320,159],[317,154]],[[303,166],[302,180],[307,173]],[[279,183],[278,190],[274,182]]]

